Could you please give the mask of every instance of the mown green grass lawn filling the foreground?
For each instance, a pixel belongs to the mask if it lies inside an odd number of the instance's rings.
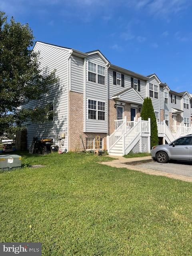
[[[44,256],[192,255],[192,184],[99,164],[92,154],[25,156],[0,173],[0,242]]]

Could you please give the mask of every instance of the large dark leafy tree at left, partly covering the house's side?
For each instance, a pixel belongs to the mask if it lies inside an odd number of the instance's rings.
[[[57,82],[55,71],[48,75],[40,68],[39,53],[32,51],[34,36],[28,24],[8,22],[0,12],[0,136],[15,132],[26,120],[38,122],[46,110],[20,108],[39,99],[48,85]]]

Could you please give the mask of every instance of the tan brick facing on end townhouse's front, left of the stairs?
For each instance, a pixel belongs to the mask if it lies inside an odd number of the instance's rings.
[[[69,151],[82,151],[83,146],[80,139],[82,135],[83,143],[86,148],[86,138],[103,138],[104,150],[106,150],[106,133],[83,132],[83,94],[78,92],[69,92]]]

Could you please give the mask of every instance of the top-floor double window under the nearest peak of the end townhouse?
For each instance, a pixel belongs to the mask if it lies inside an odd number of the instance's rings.
[[[88,61],[88,81],[105,84],[105,67]]]

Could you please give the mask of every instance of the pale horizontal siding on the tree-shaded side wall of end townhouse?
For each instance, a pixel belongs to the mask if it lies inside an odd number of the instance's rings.
[[[44,108],[48,102],[54,101],[54,121],[41,124],[28,124],[27,146],[29,148],[33,137],[52,138],[54,144],[59,144],[58,134],[66,133],[68,127],[68,58],[69,51],[37,42],[34,52],[40,52],[40,68],[46,72],[56,70],[59,82],[49,86],[49,91],[40,100],[32,100],[24,108],[33,109],[36,106]],[[68,136],[62,141],[61,150],[68,148]]]

